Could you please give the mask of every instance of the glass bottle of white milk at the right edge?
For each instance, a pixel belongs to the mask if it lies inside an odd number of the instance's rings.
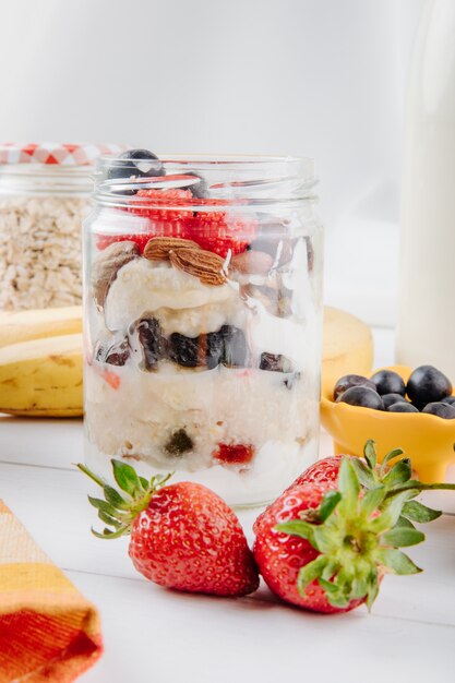
[[[455,382],[455,1],[428,2],[407,99],[397,361]]]

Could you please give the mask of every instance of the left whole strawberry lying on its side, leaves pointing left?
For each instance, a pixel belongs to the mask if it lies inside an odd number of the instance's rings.
[[[104,490],[105,501],[88,496],[98,517],[113,527],[99,538],[131,535],[129,554],[149,580],[189,592],[243,596],[259,586],[258,568],[232,510],[216,493],[167,477],[147,481],[111,460],[117,491],[85,465],[77,467]]]

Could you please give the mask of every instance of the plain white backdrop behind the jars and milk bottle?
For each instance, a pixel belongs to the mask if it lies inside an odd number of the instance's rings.
[[[326,302],[395,315],[422,0],[0,2],[0,139],[312,156]]]

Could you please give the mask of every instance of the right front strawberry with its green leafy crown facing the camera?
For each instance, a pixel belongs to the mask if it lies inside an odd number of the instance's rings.
[[[398,549],[424,539],[412,522],[441,513],[411,499],[455,484],[411,480],[407,458],[388,467],[399,453],[392,451],[379,468],[369,441],[366,462],[342,458],[337,489],[332,481],[300,483],[267,508],[255,525],[254,558],[274,592],[318,612],[346,612],[362,602],[370,609],[384,574],[421,571]]]

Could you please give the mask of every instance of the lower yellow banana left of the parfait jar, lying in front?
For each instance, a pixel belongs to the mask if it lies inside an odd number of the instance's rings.
[[[82,411],[82,334],[0,348],[0,412],[79,417]]]

